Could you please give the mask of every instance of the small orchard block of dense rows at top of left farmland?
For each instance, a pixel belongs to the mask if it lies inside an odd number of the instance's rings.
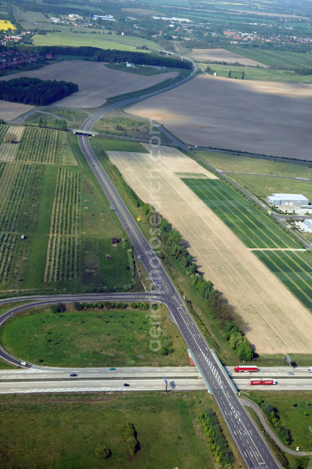
[[[15,161],[54,164],[58,140],[57,130],[28,127],[18,144]]]

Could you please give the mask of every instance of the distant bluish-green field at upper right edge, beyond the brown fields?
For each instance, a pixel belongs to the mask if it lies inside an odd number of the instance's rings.
[[[249,59],[265,63],[271,67],[301,68],[312,67],[312,54],[300,52],[269,51],[265,49],[247,49],[241,47],[227,47],[228,50],[244,55]]]

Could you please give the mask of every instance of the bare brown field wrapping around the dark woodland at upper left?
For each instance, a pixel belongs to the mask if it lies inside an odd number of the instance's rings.
[[[105,67],[103,62],[70,60],[47,65],[37,70],[16,73],[14,76],[4,76],[1,77],[0,80],[9,80],[12,77],[18,78],[20,76],[35,76],[42,80],[65,80],[74,82],[79,86],[79,91],[53,103],[53,106],[97,107],[104,104],[107,98],[148,88],[163,80],[173,78],[176,75],[175,72],[168,72],[160,75],[141,76],[112,70]],[[10,106],[12,106],[12,104],[14,105],[14,103],[9,104]],[[1,112],[1,107],[0,105],[0,117],[3,119],[12,119],[13,117],[4,117]],[[28,106],[29,109],[32,109],[32,107],[33,106]],[[15,114],[14,117],[27,110],[28,109],[21,110],[19,113]]]

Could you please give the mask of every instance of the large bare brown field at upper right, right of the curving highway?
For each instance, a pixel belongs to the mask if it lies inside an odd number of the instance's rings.
[[[199,75],[127,112],[159,116],[188,144],[311,160],[311,106],[311,85]]]

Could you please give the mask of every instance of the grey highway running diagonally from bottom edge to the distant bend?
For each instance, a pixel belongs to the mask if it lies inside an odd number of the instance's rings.
[[[145,97],[148,97],[148,95]],[[129,102],[124,101],[123,105],[134,102],[132,99],[129,100]],[[88,117],[82,124],[81,130],[92,129],[95,122],[103,113],[107,112],[106,109],[107,108],[101,109],[93,114],[93,116]],[[109,203],[114,207],[114,211],[122,226],[127,231],[137,254],[141,257],[146,271],[149,273],[154,284],[158,285],[158,298],[167,306],[170,318],[172,318],[183,335],[198,370],[206,386],[209,388],[210,392],[213,393],[247,467],[250,469],[260,467],[263,469],[273,469],[279,467],[274,455],[271,453],[268,446],[266,446],[258,429],[238,400],[236,390],[228,380],[221,364],[214,356],[212,350],[208,348],[197,325],[191,318],[182,297],[179,295],[173,281],[161,264],[160,259],[154,254],[152,247],[145,239],[137,222],[133,219],[107,173],[100,165],[99,160],[92,151],[89,138],[80,135],[78,136],[78,141]]]

